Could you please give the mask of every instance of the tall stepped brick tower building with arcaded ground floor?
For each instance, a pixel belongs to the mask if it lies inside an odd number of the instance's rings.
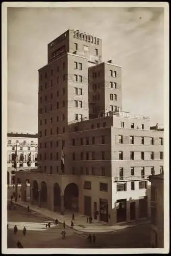
[[[148,176],[163,168],[163,131],[123,111],[121,67],[102,61],[100,38],[68,30],[47,49],[39,70],[41,174],[27,174],[32,203],[110,225],[150,217]]]

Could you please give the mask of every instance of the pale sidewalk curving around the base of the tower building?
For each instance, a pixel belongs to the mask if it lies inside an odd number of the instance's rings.
[[[51,219],[58,219],[60,223],[63,223],[65,221],[66,226],[70,227],[71,224],[71,212],[66,212],[65,215],[60,215],[59,212],[53,212],[46,208],[38,207],[37,205],[31,205],[28,202],[21,202],[17,201],[17,205],[23,206],[23,207],[30,207],[31,210],[36,211],[38,214],[41,214],[45,217],[51,218]],[[86,223],[86,216],[81,215],[79,213],[75,213],[75,221],[74,221],[74,230],[80,231],[80,232],[88,232],[88,233],[107,233],[107,232],[115,232],[121,229],[133,227],[139,224],[143,224],[148,222],[148,220],[139,220],[131,223],[121,223],[120,225],[114,225],[109,226],[106,222],[97,222],[96,220],[93,220],[91,224]]]

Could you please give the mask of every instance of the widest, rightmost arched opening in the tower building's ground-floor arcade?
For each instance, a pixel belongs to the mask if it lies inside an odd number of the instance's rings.
[[[75,183],[70,183],[65,187],[64,207],[72,211],[79,210],[79,188]]]

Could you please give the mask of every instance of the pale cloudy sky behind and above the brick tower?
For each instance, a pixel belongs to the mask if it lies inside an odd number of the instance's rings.
[[[163,8],[8,8],[8,132],[37,133],[38,69],[68,29],[102,39],[103,61],[122,67],[123,111],[164,119]]]

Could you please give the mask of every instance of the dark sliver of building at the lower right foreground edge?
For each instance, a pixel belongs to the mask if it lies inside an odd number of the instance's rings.
[[[150,176],[151,182],[151,245],[164,248],[164,179],[163,172]]]

